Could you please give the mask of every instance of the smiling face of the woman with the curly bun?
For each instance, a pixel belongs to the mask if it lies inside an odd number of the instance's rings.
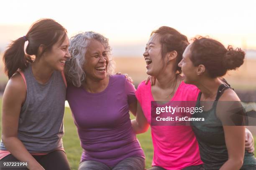
[[[182,55],[182,60],[179,62],[179,67],[182,68],[184,74],[184,82],[187,84],[195,84],[198,80],[197,67],[194,66],[193,62],[190,60],[191,55],[191,45],[188,45]]]

